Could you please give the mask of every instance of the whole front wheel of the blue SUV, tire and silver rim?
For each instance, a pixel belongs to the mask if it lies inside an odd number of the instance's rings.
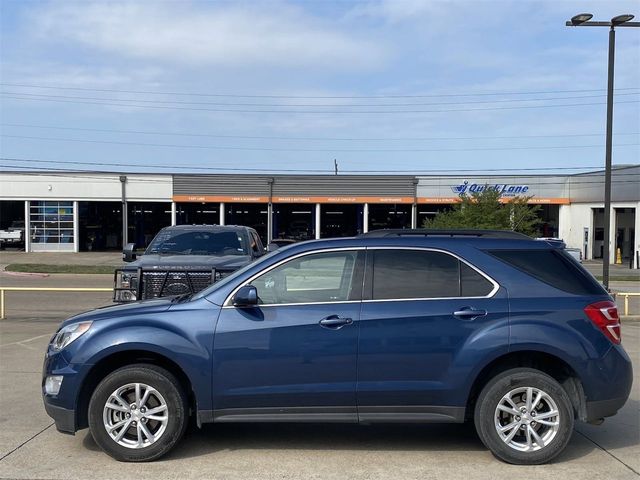
[[[89,402],[91,435],[119,461],[161,457],[180,440],[186,426],[187,402],[180,383],[155,365],[116,370],[100,382]]]

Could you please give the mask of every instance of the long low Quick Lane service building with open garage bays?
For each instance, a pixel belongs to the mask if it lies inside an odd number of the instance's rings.
[[[568,175],[200,175],[0,173],[0,228],[24,225],[30,252],[144,247],[167,225],[248,225],[265,243],[420,227],[461,193],[498,189],[541,205],[539,236],[602,258],[604,172]],[[638,267],[640,165],[612,174],[610,261]]]

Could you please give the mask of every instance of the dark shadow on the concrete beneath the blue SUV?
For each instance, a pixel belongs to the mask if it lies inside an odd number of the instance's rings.
[[[568,448],[554,463],[588,455],[598,448],[577,432]],[[636,442],[637,443],[637,442]],[[84,447],[99,450],[90,434]],[[180,461],[221,451],[241,450],[368,450],[430,451],[465,453],[488,450],[473,424],[353,425],[353,424],[208,424],[191,428],[185,438],[163,460]]]

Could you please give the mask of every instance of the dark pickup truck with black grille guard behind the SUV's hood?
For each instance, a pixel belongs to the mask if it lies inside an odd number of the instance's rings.
[[[262,256],[256,231],[243,226],[165,227],[140,258],[135,245],[124,249],[129,265],[114,275],[115,302],[197,293]]]

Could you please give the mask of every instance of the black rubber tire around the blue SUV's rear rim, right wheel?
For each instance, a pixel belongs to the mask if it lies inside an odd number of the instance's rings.
[[[521,451],[507,444],[500,433],[498,433],[496,427],[496,409],[503,397],[509,392],[526,387],[541,390],[550,397],[559,412],[559,416],[557,417],[559,425],[555,435],[550,437],[548,442],[543,441],[544,446],[541,447],[540,444],[534,440],[533,444],[537,450]],[[524,399],[526,403],[526,394]],[[543,407],[548,405],[542,401],[540,404],[542,404]],[[519,408],[523,406],[524,405],[519,406]],[[524,407],[526,410],[526,406]],[[547,411],[551,411],[551,409]],[[542,412],[536,410],[534,414],[541,416]],[[526,420],[525,415],[519,417],[515,415],[510,416],[511,414],[509,413],[501,415],[507,418],[501,425],[509,425],[509,422],[520,421],[519,419],[522,419],[524,422],[533,420],[534,422],[531,424],[531,428],[537,429],[536,433],[538,433],[539,436],[544,438],[544,433],[551,435],[548,429],[553,428],[535,422],[535,417],[532,418],[531,415],[528,415]],[[556,420],[552,419],[552,421],[555,422]],[[500,460],[516,465],[540,465],[549,462],[559,455],[567,446],[567,443],[569,443],[573,433],[574,411],[567,392],[555,379],[532,368],[515,368],[502,372],[492,378],[482,389],[476,403],[474,423],[482,443]],[[522,438],[523,442],[526,442],[525,433],[527,433],[529,427],[528,425],[524,425],[519,428],[521,430],[516,430],[515,437],[512,441],[515,440],[517,442]],[[511,432],[512,430],[508,431],[508,433]],[[508,433],[505,433],[506,437],[508,437]]]

